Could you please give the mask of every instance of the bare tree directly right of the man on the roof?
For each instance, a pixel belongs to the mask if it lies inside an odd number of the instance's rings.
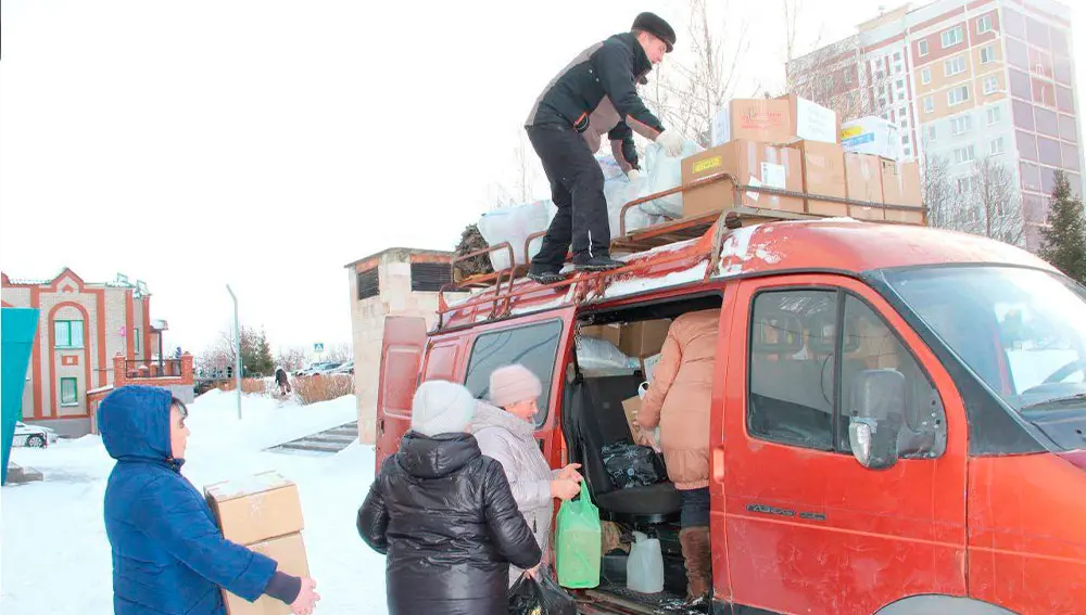
[[[645,102],[668,130],[675,130],[703,146],[709,145],[712,118],[724,101],[732,98],[738,79],[740,57],[749,49],[746,24],[730,22],[731,0],[710,9],[710,0],[691,0],[691,59],[660,66],[653,77]],[[712,2],[717,4],[717,2]],[[728,33],[738,36],[725,44]]]

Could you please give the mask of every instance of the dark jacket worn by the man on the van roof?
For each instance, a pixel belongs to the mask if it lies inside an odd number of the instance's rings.
[[[632,33],[597,42],[547,84],[526,126],[572,126],[593,153],[599,150],[602,136],[607,133],[615,159],[623,170],[639,168],[633,130],[652,141],[664,131],[664,125],[645,106],[635,86],[652,69],[653,63]]]

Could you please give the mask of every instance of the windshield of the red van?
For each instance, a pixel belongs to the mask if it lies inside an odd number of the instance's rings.
[[[1008,406],[1086,413],[1086,294],[1055,274],[1008,267],[886,272],[909,308]]]

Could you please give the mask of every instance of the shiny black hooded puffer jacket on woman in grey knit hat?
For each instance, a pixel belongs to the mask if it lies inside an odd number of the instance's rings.
[[[542,558],[502,464],[470,434],[405,435],[358,510],[358,534],[388,555],[389,615],[504,615],[509,563]]]

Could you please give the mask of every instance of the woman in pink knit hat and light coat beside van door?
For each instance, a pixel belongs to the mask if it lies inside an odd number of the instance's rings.
[[[517,508],[535,534],[535,541],[543,550],[543,562],[551,562],[548,540],[555,498],[572,499],[580,492],[580,463],[570,463],[561,470],[551,470],[539,445],[535,444],[535,414],[543,384],[528,368],[506,366],[490,375],[490,403],[476,406],[471,433],[479,441],[479,449],[487,457],[497,460],[517,500]],[[516,582],[522,571],[509,568],[509,585]],[[535,571],[529,571],[534,575]]]

